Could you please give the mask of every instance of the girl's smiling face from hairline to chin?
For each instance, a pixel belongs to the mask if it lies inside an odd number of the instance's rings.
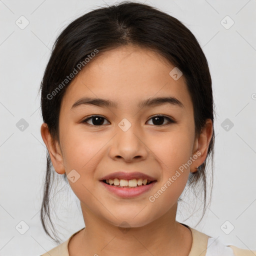
[[[190,167],[203,162],[196,154],[192,101],[184,77],[169,75],[173,68],[149,49],[124,46],[99,52],[67,87],[59,115],[64,168],[54,168],[71,177],[83,212],[116,226],[143,226],[173,209]],[[116,105],[86,103],[84,97]],[[172,100],[141,105],[156,97]],[[138,188],[108,189],[103,177],[118,171],[154,181],[133,195],[127,189]]]

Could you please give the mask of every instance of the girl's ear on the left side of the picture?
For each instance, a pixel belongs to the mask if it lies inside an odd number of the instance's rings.
[[[44,144],[46,145],[52,165],[55,171],[59,174],[65,173],[65,168],[63,164],[63,157],[59,147],[59,144],[54,140],[49,132],[47,123],[43,122],[41,125],[41,136]]]

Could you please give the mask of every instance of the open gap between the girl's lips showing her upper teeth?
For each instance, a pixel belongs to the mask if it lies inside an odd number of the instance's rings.
[[[115,187],[123,187],[123,188],[135,188],[135,187],[140,187],[140,186],[146,186],[150,183],[156,182],[156,180],[147,180],[147,179],[103,179],[101,180],[107,185],[110,186],[115,186]]]

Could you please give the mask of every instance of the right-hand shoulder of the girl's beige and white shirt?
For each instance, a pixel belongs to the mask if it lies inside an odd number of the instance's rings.
[[[213,238],[187,226],[192,233],[192,247],[188,256],[255,256],[256,250],[241,249],[234,245],[225,245]]]

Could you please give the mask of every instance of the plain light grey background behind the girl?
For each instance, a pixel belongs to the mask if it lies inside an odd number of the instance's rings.
[[[181,210],[177,220],[224,244],[256,249],[256,0],[144,2],[191,30],[212,77],[216,105],[212,202],[196,227],[200,217],[196,212],[183,221],[189,209]],[[1,256],[39,255],[56,246],[40,223],[46,148],[37,91],[56,36],[96,5],[104,5],[103,0],[0,0]],[[27,21],[21,15],[29,22],[23,29],[20,26]],[[21,118],[28,124],[23,130]],[[64,241],[84,226],[80,205],[63,183],[54,198],[58,205],[54,223]],[[26,225],[24,234],[15,228]]]

